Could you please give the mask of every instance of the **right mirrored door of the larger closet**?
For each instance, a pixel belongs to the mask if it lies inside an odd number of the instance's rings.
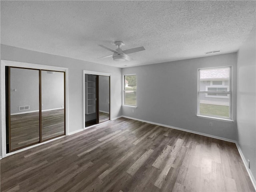
[[[41,70],[42,141],[64,135],[64,72]]]

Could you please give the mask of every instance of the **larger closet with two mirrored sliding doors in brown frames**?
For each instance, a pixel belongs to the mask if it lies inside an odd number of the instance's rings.
[[[65,72],[5,71],[6,153],[65,135]]]

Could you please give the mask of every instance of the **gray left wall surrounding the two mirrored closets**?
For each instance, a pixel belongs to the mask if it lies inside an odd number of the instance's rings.
[[[111,73],[112,118],[122,115],[121,69],[1,44],[1,59],[68,68],[69,132],[83,128],[83,70]]]

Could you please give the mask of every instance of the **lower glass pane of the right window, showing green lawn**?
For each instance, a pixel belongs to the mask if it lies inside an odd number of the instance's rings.
[[[208,94],[209,95],[209,94]],[[199,94],[199,114],[209,116],[220,116],[229,118],[230,98],[207,97],[207,94]]]

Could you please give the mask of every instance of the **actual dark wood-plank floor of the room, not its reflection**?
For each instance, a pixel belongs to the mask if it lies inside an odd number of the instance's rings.
[[[254,191],[234,143],[119,118],[1,160],[1,191]]]

